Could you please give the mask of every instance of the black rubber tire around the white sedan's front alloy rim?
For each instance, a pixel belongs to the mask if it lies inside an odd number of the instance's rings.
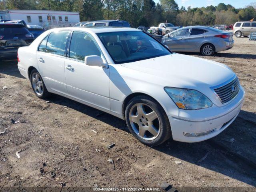
[[[132,110],[132,107],[135,104],[138,103],[142,103],[142,104],[146,104],[148,105],[150,108],[152,108],[152,110],[154,110],[154,112],[156,112],[157,116],[158,116],[158,126],[159,126],[159,130],[158,130],[158,136],[156,136],[156,138],[154,138],[154,140],[145,140],[143,138],[141,138],[140,136],[138,136],[138,134],[136,134],[136,132],[134,132],[131,124],[130,124],[130,110]],[[168,117],[164,111],[164,109],[158,104],[158,102],[156,102],[156,100],[154,100],[153,98],[149,97],[149,96],[136,96],[134,98],[132,98],[128,104],[127,107],[125,109],[125,120],[126,120],[126,124],[130,130],[130,132],[132,133],[132,135],[138,139],[140,142],[142,142],[143,144],[146,144],[148,146],[157,146],[162,144],[163,142],[165,142],[166,140],[168,140],[169,138],[171,138],[172,134],[171,134],[171,126],[170,126],[170,122],[168,120]]]

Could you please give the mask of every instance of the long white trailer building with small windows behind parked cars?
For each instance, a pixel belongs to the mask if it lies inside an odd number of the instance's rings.
[[[52,10],[0,10],[2,20],[24,20],[28,25],[44,28],[73,26],[80,22],[78,12]]]

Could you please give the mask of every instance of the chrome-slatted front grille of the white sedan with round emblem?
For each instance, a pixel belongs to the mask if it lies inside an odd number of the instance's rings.
[[[236,77],[234,80],[232,80],[232,82],[230,82],[222,87],[215,88],[214,91],[219,96],[222,103],[229,102],[239,92],[238,78]]]

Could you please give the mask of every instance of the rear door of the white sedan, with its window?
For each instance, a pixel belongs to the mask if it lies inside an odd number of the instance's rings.
[[[65,49],[70,30],[50,33],[41,42],[36,53],[40,74],[52,91],[66,94]]]

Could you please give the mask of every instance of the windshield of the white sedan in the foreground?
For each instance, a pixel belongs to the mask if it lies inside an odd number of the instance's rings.
[[[151,36],[139,32],[107,32],[97,34],[116,64],[134,62],[171,54]]]

